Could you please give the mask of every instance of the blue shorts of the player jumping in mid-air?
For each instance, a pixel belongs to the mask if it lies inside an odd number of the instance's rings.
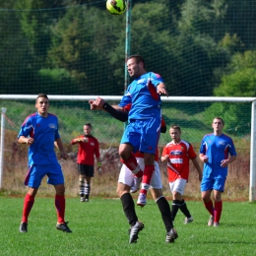
[[[121,144],[130,143],[133,152],[156,154],[160,140],[160,119],[130,120]]]

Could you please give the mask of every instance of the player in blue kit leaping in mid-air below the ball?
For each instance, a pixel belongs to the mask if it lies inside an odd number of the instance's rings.
[[[145,61],[140,55],[131,55],[127,70],[133,82],[129,85],[119,106],[132,104],[128,115],[128,125],[119,146],[121,161],[135,174],[133,192],[142,188],[137,205],[147,204],[147,193],[155,169],[155,153],[160,138],[160,95],[168,95],[159,74],[147,72]],[[140,169],[132,153],[144,153],[145,168]]]

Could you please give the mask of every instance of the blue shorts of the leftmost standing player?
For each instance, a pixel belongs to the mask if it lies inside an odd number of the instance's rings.
[[[51,185],[64,184],[64,176],[60,164],[52,165],[31,165],[24,184],[29,187],[38,188],[42,178],[47,175],[47,183]]]

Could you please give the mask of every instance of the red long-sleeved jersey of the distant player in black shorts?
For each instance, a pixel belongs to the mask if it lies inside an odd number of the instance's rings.
[[[94,165],[95,155],[96,155],[96,158],[99,158],[98,141],[94,136],[85,136],[85,135],[80,135],[75,139],[84,138],[84,137],[86,137],[89,141],[79,142],[77,163]],[[74,142],[75,139],[71,141],[72,145],[77,144]]]

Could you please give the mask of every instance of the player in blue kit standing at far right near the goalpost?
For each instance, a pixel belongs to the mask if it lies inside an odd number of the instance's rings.
[[[214,133],[205,135],[200,148],[199,157],[204,162],[201,195],[211,215],[208,225],[219,226],[223,212],[222,194],[227,176],[227,165],[236,160],[236,152],[232,139],[223,134],[224,120],[216,117],[212,127]],[[211,199],[212,191],[215,205]]]

